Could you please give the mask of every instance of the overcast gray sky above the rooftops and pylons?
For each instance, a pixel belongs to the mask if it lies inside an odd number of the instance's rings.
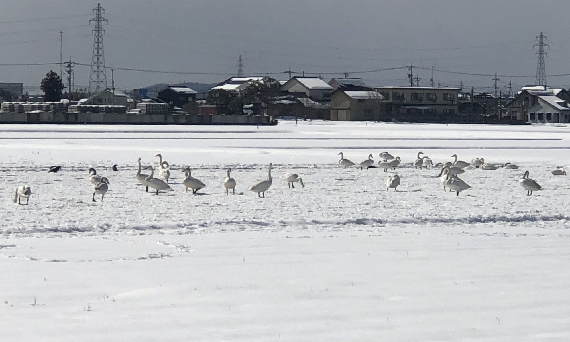
[[[91,63],[88,20],[97,2],[5,0],[2,5],[0,64],[59,62],[59,31],[64,60]],[[551,45],[547,74],[570,72],[568,0],[113,0],[101,5],[109,20],[107,67],[230,75],[242,54],[248,74],[289,67],[339,76],[352,72],[378,86],[406,84],[408,71],[355,72],[413,62],[446,71],[530,76],[502,77],[504,90],[510,80],[515,87],[534,83],[532,45],[543,31]],[[59,72],[59,66],[0,66],[0,80],[38,86],[50,68]],[[429,86],[431,71],[418,75],[420,86]],[[124,89],[225,78],[115,71],[115,85]],[[493,84],[487,76],[437,71],[434,79],[446,86],[463,80],[479,91],[490,91]],[[76,86],[87,86],[88,80],[89,67],[76,66]],[[551,77],[548,84],[568,88],[570,77]]]

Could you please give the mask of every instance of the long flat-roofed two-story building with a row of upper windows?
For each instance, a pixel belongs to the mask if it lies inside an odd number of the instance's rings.
[[[459,88],[374,87],[384,97],[387,119],[427,119],[458,113]]]

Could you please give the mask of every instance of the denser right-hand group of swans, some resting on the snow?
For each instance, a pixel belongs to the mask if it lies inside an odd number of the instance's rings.
[[[354,166],[351,160],[348,160],[344,157],[344,153],[339,153],[340,160],[339,165],[344,169]],[[396,170],[396,168],[400,165],[401,158],[394,157],[392,154],[388,152],[382,152],[378,155],[380,157],[380,161],[378,162],[378,166],[374,165],[374,160],[372,154],[368,155],[368,159],[361,162],[357,165],[361,170],[362,169],[371,169],[371,168],[380,168],[383,169],[384,172],[388,172],[388,170]],[[413,162],[413,166],[416,169],[430,169],[430,168],[441,168],[441,172],[438,174],[439,181],[441,181],[443,185],[443,191],[453,191],[457,196],[459,196],[460,192],[471,188],[469,184],[459,178],[459,174],[465,173],[466,170],[473,170],[473,169],[481,169],[481,170],[497,170],[500,168],[516,170],[519,169],[518,165],[511,164],[507,162],[505,164],[489,164],[485,162],[484,158],[474,158],[471,162],[466,162],[463,160],[458,160],[457,154],[453,154],[451,156],[454,158],[453,162],[448,161],[445,163],[438,163],[433,164],[433,161],[430,157],[426,156],[424,152],[418,152],[416,160]],[[554,176],[565,176],[566,172],[560,169],[556,169],[551,171]],[[523,174],[523,177],[519,179],[519,184],[527,190],[527,196],[531,196],[532,192],[542,190],[542,187],[529,177],[529,172],[526,171]],[[386,180],[386,190],[393,188],[394,190],[398,191],[397,186],[400,185],[400,176],[398,174],[393,174]]]

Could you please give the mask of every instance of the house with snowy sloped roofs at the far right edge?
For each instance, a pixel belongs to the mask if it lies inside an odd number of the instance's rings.
[[[530,123],[570,123],[570,92],[548,86],[524,86],[507,105],[511,119]]]

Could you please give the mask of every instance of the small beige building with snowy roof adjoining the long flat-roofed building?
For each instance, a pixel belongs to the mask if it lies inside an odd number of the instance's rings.
[[[331,121],[378,121],[384,111],[382,99],[372,90],[337,89],[331,96]]]

